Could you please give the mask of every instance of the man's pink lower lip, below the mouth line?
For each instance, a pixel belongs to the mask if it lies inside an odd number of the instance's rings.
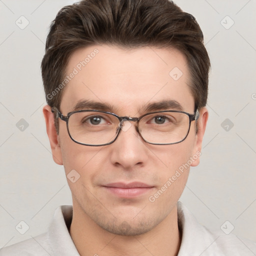
[[[141,194],[147,193],[153,187],[133,187],[133,188],[120,188],[112,186],[104,186],[109,192],[122,197],[122,198],[133,198]]]

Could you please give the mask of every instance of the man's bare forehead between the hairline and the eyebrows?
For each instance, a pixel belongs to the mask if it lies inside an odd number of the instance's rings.
[[[66,75],[63,113],[81,100],[106,103],[119,114],[136,113],[143,105],[162,100],[175,100],[183,110],[193,111],[187,62],[173,48],[83,47],[71,54]]]

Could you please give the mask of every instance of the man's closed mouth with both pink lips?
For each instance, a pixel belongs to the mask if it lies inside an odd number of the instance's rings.
[[[102,187],[115,196],[133,198],[151,191],[154,186],[141,182],[115,182],[103,185]]]

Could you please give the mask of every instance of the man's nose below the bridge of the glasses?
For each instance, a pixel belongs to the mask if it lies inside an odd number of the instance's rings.
[[[145,165],[148,158],[145,143],[136,130],[136,123],[124,121],[118,137],[111,144],[110,161],[124,169]]]

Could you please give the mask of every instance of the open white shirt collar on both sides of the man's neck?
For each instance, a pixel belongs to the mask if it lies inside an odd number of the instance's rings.
[[[72,213],[72,205],[58,206],[54,212],[47,234],[54,255],[79,256],[68,231],[72,220]],[[216,255],[221,255],[220,252],[219,254],[217,253],[218,248],[214,244],[218,237],[215,237],[204,226],[200,225],[181,202],[177,202],[177,213],[178,226],[182,233],[178,256],[197,255],[198,252],[206,256],[212,255],[208,254],[212,251]],[[209,247],[210,250],[208,249]]]

